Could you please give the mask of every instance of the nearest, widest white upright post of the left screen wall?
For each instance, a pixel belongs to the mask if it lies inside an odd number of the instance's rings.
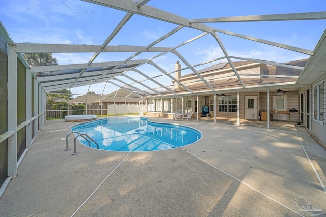
[[[8,176],[17,176],[17,54],[14,45],[8,45]]]

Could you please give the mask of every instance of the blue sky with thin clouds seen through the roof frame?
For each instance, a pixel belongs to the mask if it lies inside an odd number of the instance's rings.
[[[265,15],[283,13],[303,13],[326,11],[326,1],[160,1],[151,0],[150,6],[175,13],[179,16],[196,19],[210,17],[229,17],[245,15]],[[3,23],[14,42],[51,43],[51,44],[94,44],[101,45],[110,35],[126,12],[118,11],[84,1],[77,0],[0,0],[0,21]],[[274,21],[274,22],[240,22],[240,23],[208,23],[218,29],[262,38],[313,50],[326,28],[325,20],[306,21]],[[147,46],[161,36],[177,27],[174,24],[133,15],[109,45]],[[174,47],[202,32],[183,28],[172,37],[156,46]],[[227,52],[231,56],[250,57],[281,63],[308,58],[307,55],[284,49],[255,43],[225,34],[219,34]],[[206,35],[192,43],[177,49],[191,65],[222,57],[222,51],[216,41]],[[124,60],[133,53],[102,53],[96,61]],[[143,53],[134,59],[147,59],[157,53]],[[87,63],[93,53],[54,53],[58,64]],[[154,60],[167,72],[174,70],[175,55],[167,54]],[[225,61],[225,60],[224,60]],[[216,64],[212,63],[212,64]],[[182,63],[181,63],[182,64]],[[184,66],[182,64],[182,66]],[[200,70],[203,67],[196,68]],[[140,68],[149,75],[159,75],[156,69],[148,65]],[[134,73],[134,72],[133,72]],[[184,71],[183,74],[190,73]],[[129,73],[132,76],[132,73]],[[126,82],[129,82],[125,80]],[[171,79],[161,80],[165,85]],[[90,91],[101,94],[104,84],[92,85]],[[75,89],[77,94],[85,94],[88,86]],[[117,87],[107,85],[104,93],[116,90]]]

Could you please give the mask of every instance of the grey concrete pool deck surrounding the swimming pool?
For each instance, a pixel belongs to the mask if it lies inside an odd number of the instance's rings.
[[[72,139],[64,149],[75,123],[47,120],[0,198],[0,216],[307,216],[312,206],[297,206],[307,202],[326,212],[326,150],[304,127],[149,118],[203,137],[153,152],[77,144],[72,156]]]

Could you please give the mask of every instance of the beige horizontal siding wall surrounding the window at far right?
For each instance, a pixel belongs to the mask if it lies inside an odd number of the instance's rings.
[[[313,91],[310,91],[310,99],[311,99],[311,107],[310,107],[310,111],[311,111],[311,133],[313,133],[323,144],[326,144],[326,116],[325,116],[325,112],[326,112],[326,76],[322,79],[323,81],[323,121],[319,122],[316,121],[313,118]],[[316,83],[314,83],[311,86],[311,90],[313,90],[313,86],[317,83],[319,83],[320,80]]]

